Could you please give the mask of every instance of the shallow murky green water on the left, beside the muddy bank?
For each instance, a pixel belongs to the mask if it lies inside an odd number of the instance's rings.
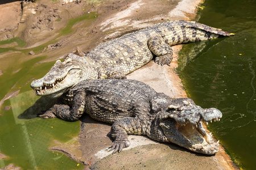
[[[53,101],[36,96],[30,83],[32,79],[42,78],[55,62],[42,63],[48,56],[31,57],[28,52],[33,50],[40,54],[45,47],[56,42],[58,37],[75,32],[77,27],[74,24],[84,22],[84,26],[96,17],[90,13],[70,19],[55,39],[35,48],[20,49],[26,42],[18,37],[0,41],[0,45],[5,46],[16,42],[16,45],[9,48],[0,47],[0,100],[11,92],[19,91],[17,96],[5,100],[0,106],[0,152],[7,156],[0,159],[0,168],[10,163],[22,169],[84,168],[84,165],[78,165],[62,153],[48,150],[58,143],[78,145],[75,138],[80,132],[80,122],[36,117],[36,113],[50,107]],[[5,53],[11,51],[13,53]]]

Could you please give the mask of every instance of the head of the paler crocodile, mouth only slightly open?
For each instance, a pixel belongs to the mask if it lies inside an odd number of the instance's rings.
[[[88,62],[86,57],[68,54],[63,62],[57,60],[43,78],[34,80],[30,86],[38,96],[59,97],[82,80],[97,79],[95,69]]]

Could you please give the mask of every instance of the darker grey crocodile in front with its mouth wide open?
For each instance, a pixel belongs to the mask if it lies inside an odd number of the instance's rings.
[[[201,154],[218,152],[219,143],[213,141],[212,134],[202,125],[202,121],[219,121],[222,113],[218,109],[203,109],[189,98],[172,100],[137,80],[84,80],[60,99],[38,116],[76,121],[86,113],[95,120],[113,124],[114,141],[109,150],[113,153],[130,145],[128,134],[147,135]]]

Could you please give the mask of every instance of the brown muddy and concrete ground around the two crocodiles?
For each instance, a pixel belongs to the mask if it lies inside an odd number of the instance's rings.
[[[21,1],[1,0],[0,40],[20,37],[27,42],[23,48],[53,42],[32,57],[48,56],[43,62],[63,58],[77,48],[88,52],[104,41],[114,39],[155,23],[167,20],[192,20],[200,0],[108,0],[81,1],[62,4],[49,0],[36,1],[36,14],[28,15],[24,23]],[[68,20],[85,13],[94,14],[94,20],[73,25],[74,32],[57,36]],[[11,45],[11,44],[10,44]],[[13,44],[15,45],[15,43]],[[2,46],[0,46],[2,47]],[[186,97],[179,76],[175,73],[178,52],[181,45],[174,47],[174,61],[171,67],[159,66],[154,62],[127,76],[141,80],[158,92],[170,97]],[[1,70],[0,70],[1,74]],[[51,150],[61,151],[72,159],[82,162],[86,169],[236,169],[223,148],[213,156],[195,154],[173,144],[159,143],[146,137],[130,135],[131,146],[119,154],[110,154],[106,148],[112,140],[110,125],[81,118],[80,146],[56,143]]]

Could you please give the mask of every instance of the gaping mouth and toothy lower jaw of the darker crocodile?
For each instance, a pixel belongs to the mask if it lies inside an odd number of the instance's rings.
[[[220,121],[220,117],[213,118],[213,121]],[[171,118],[161,122],[160,126],[169,142],[201,154],[213,155],[218,152],[219,141],[214,142],[212,133],[203,128],[201,120],[193,125],[188,121],[179,124]]]

